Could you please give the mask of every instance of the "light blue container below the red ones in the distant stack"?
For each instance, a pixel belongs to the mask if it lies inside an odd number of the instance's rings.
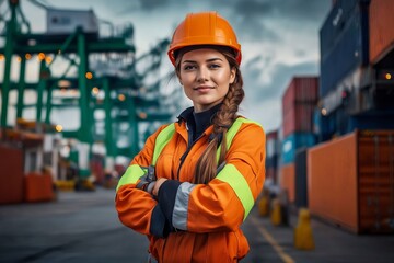
[[[293,133],[282,141],[281,163],[294,162],[296,151],[301,147],[311,147],[316,142],[315,135],[312,133]]]

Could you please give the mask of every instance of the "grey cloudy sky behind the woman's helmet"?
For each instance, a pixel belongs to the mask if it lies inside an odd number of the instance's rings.
[[[45,11],[30,1],[22,10],[33,31],[45,31]],[[188,12],[218,11],[242,45],[246,99],[241,114],[266,132],[281,124],[281,96],[293,76],[318,75],[318,31],[332,0],[42,0],[54,8],[93,9],[115,25],[135,27],[137,56],[170,37]],[[163,68],[171,69],[167,59]],[[2,70],[1,70],[2,71]]]

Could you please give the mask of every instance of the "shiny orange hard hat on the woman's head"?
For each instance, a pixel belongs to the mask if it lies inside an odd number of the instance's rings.
[[[176,27],[169,48],[169,57],[175,66],[174,52],[183,47],[215,45],[230,47],[241,64],[241,45],[230,23],[217,12],[189,13]]]

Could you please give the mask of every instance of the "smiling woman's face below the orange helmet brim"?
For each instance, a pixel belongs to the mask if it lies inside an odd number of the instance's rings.
[[[178,78],[195,112],[202,112],[223,100],[234,82],[235,68],[230,69],[224,55],[216,49],[194,49],[183,55]]]

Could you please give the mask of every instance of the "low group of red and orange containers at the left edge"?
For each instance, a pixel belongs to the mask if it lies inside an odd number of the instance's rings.
[[[3,140],[7,138],[7,141]],[[44,160],[44,135],[4,129],[0,135],[0,204],[53,201],[53,171]]]

